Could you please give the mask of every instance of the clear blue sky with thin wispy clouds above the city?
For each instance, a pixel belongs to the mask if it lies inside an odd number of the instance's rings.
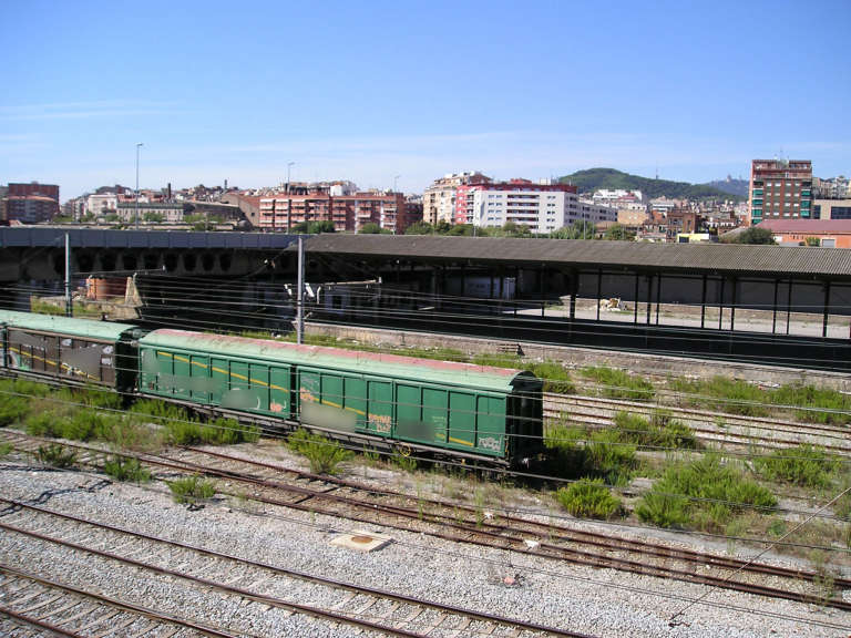
[[[7,0],[0,184],[851,173],[851,1]]]

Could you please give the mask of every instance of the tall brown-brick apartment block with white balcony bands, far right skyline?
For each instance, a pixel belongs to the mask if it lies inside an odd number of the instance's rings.
[[[753,160],[750,168],[750,223],[809,219],[812,209],[812,162]]]

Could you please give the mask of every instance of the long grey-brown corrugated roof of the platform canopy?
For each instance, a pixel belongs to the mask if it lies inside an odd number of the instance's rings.
[[[851,249],[804,246],[327,234],[308,239],[305,249],[311,254],[423,261],[851,278]]]

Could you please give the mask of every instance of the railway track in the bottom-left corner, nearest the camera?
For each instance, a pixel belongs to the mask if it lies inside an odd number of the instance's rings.
[[[96,591],[63,585],[9,565],[0,565],[0,616],[49,635],[70,638],[240,636]]]

